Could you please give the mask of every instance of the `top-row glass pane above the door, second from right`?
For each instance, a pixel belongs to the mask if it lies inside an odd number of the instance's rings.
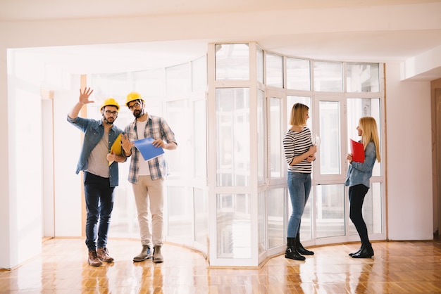
[[[342,63],[314,61],[314,91],[342,92]]]

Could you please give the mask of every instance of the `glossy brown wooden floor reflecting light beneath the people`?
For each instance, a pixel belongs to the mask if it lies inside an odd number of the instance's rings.
[[[259,269],[211,269],[204,256],[165,244],[165,262],[132,262],[139,241],[111,239],[115,262],[87,264],[83,239],[43,243],[39,257],[0,270],[0,293],[441,293],[441,242],[373,243],[373,259],[353,259],[359,243],[313,248],[306,261],[273,257]]]

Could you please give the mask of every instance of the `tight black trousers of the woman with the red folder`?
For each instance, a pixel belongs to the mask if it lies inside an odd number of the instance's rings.
[[[361,245],[369,245],[368,229],[363,219],[364,196],[369,188],[363,184],[349,187],[349,218],[354,223],[356,231],[359,233]]]

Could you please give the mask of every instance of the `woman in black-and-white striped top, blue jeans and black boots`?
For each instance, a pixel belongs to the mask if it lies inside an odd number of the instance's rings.
[[[287,185],[290,192],[292,214],[287,229],[285,258],[305,260],[302,255],[313,255],[300,243],[300,220],[311,191],[311,170],[316,159],[317,146],[311,140],[311,131],[306,127],[309,107],[302,103],[292,106],[290,129],[283,137],[283,148],[288,164]]]

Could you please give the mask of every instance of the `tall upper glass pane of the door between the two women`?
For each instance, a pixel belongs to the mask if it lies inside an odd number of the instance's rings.
[[[320,173],[341,174],[340,102],[320,101]]]

